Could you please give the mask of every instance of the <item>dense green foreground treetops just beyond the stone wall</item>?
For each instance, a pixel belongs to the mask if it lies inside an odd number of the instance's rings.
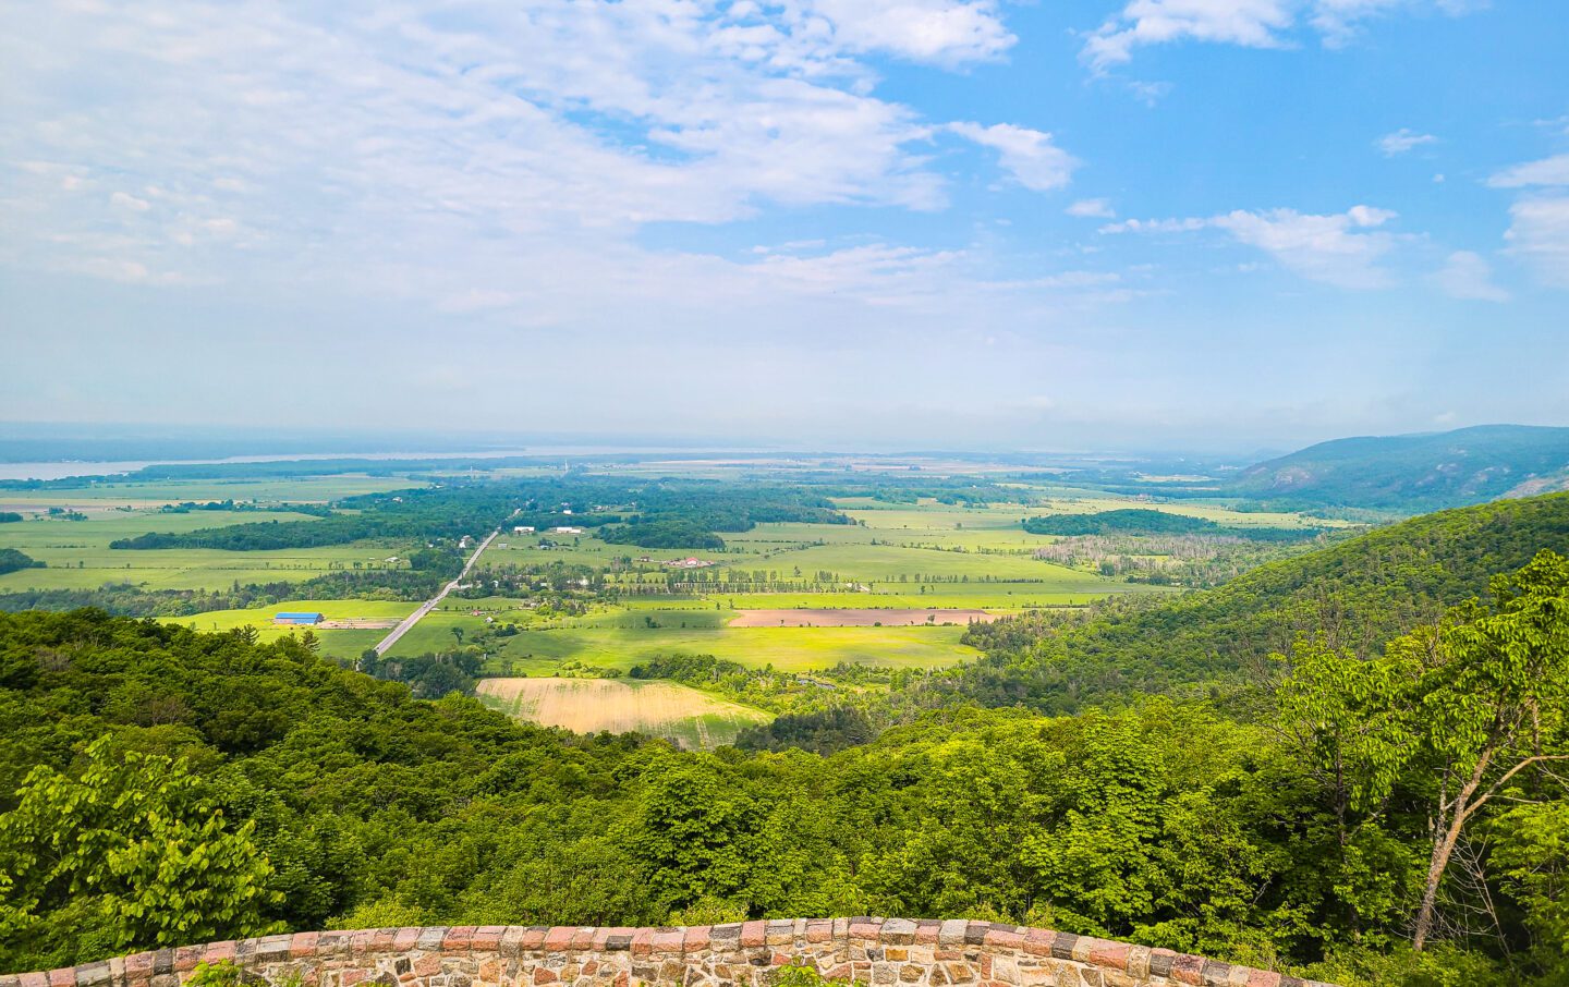
[[[1321,745],[1166,700],[952,709],[827,758],[683,753],[89,610],[0,617],[0,686],[5,968],[275,927],[968,913],[1345,974],[1401,949],[1428,871],[1423,758],[1345,839]],[[1445,935],[1492,982],[1563,973],[1555,792],[1516,775],[1473,822],[1498,921]],[[137,850],[94,857],[105,839]],[[141,872],[190,893],[127,909]],[[1465,915],[1467,880],[1443,888]]]

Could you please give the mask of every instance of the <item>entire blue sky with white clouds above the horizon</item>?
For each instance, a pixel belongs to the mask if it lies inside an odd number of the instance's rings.
[[[0,0],[0,421],[1569,424],[1558,0]]]

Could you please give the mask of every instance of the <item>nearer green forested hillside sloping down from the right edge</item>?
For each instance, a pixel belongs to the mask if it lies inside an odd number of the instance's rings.
[[[1487,592],[1541,549],[1569,552],[1569,494],[1412,518],[1260,566],[1158,604],[1108,604],[1087,623],[1050,612],[976,625],[987,659],[946,687],[985,705],[1070,711],[1125,695],[1236,681],[1299,634],[1376,653],[1447,607]],[[945,686],[938,686],[940,689]]]

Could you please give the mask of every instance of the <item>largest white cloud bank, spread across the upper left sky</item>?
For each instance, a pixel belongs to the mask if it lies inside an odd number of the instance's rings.
[[[0,260],[516,303],[541,325],[606,286],[756,286],[750,265],[643,246],[654,223],[941,209],[929,155],[948,124],[874,96],[865,55],[952,67],[1015,42],[996,0],[168,0],[13,20],[0,146],[28,165],[0,180]],[[1029,188],[1075,163],[1043,132],[957,130]],[[137,193],[71,195],[105,185]]]

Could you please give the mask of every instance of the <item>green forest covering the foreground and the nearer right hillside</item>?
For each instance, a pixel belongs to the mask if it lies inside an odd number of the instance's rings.
[[[1216,590],[974,625],[977,662],[861,672],[882,687],[706,753],[513,722],[468,668],[420,700],[309,634],[0,614],[0,968],[880,913],[1343,984],[1561,984],[1566,554],[1569,496],[1417,518]]]

